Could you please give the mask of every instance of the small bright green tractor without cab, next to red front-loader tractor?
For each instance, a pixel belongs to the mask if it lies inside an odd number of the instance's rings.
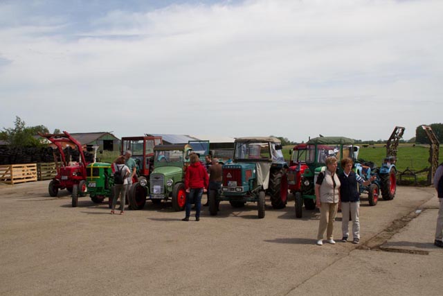
[[[96,204],[100,204],[109,198],[109,204],[112,202],[114,196],[114,176],[111,170],[111,164],[104,162],[93,162],[87,165],[86,168],[86,186],[87,189],[82,189],[83,183],[73,187],[72,206],[77,207],[78,198],[89,194],[89,198]],[[80,194],[80,192],[82,194]]]

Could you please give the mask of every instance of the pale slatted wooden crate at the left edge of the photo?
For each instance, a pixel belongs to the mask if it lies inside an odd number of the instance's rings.
[[[10,164],[0,166],[0,182],[17,184],[37,181],[37,164]]]

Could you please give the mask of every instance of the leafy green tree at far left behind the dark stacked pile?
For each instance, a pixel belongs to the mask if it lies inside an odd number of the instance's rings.
[[[10,147],[41,146],[42,143],[35,137],[37,132],[49,131],[44,125],[26,127],[26,123],[19,116],[15,116],[14,128],[3,128],[0,132],[0,139],[7,141]]]

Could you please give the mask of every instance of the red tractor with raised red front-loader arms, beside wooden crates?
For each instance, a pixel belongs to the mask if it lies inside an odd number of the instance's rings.
[[[68,132],[63,132],[63,134],[39,133],[39,135],[51,141],[58,150],[58,153],[54,151],[57,175],[49,182],[49,195],[55,197],[59,190],[66,188],[73,195],[84,196],[83,193],[87,192],[86,166],[94,159],[88,159],[89,162],[85,159],[82,144]],[[69,153],[71,150],[75,153]]]

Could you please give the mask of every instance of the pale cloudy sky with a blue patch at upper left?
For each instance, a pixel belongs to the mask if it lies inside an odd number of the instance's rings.
[[[443,122],[441,0],[0,0],[0,128],[415,137]]]

